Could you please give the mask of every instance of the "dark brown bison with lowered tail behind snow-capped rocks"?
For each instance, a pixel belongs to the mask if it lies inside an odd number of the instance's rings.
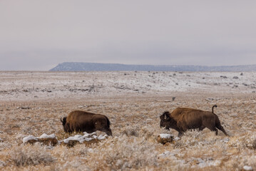
[[[74,131],[93,133],[96,130],[101,130],[107,135],[112,136],[111,122],[106,115],[75,110],[69,113],[68,117],[64,117],[63,120],[61,119],[61,123],[66,133]]]

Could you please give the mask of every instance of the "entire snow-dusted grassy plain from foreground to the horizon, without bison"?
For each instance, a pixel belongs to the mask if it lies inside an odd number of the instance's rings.
[[[256,170],[256,73],[0,72],[0,170]],[[159,116],[178,107],[211,110],[230,137],[205,129],[177,138]],[[72,110],[101,113],[113,137],[54,147],[23,143],[63,132]],[[157,142],[171,134],[174,142]],[[97,132],[98,138],[105,133]]]

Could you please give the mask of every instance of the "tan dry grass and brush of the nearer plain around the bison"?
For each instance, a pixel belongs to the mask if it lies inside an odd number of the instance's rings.
[[[188,131],[173,144],[157,142],[160,133],[178,135],[159,127],[165,110],[181,106],[211,110],[215,104],[230,137],[205,129]],[[21,106],[29,108],[17,108]],[[22,144],[27,135],[54,133],[58,140],[75,135],[63,133],[60,118],[77,109],[107,115],[113,138],[74,147]],[[245,165],[255,170],[255,111],[252,94],[225,92],[6,100],[0,105],[0,170],[242,170]]]

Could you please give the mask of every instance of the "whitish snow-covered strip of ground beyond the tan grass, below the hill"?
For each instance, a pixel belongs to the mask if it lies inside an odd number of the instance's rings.
[[[0,72],[0,100],[46,100],[173,92],[255,93],[256,73]]]

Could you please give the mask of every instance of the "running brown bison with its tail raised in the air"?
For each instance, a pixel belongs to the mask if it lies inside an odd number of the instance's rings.
[[[217,105],[213,105],[213,108]],[[220,125],[220,120],[215,113],[192,108],[176,108],[172,113],[164,112],[160,115],[160,128],[165,127],[169,130],[173,128],[178,131],[178,136],[183,135],[186,130],[208,128],[215,131],[221,130],[225,135],[226,131]],[[216,129],[217,128],[217,129]],[[228,135],[227,135],[228,136]]]

